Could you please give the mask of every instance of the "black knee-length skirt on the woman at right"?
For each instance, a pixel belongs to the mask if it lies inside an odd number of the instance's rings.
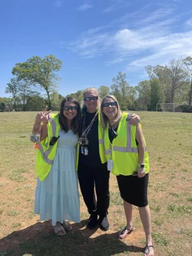
[[[147,185],[148,174],[143,178],[138,176],[124,176],[118,175],[117,182],[121,198],[127,203],[136,205],[138,207],[144,207],[148,204],[147,201]]]

